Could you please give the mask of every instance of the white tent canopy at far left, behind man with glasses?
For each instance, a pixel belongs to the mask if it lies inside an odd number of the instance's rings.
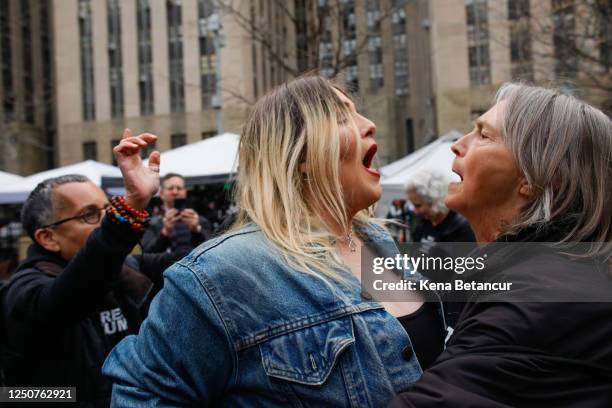
[[[89,178],[98,186],[102,184],[103,176],[121,177],[121,172],[115,166],[93,160],[86,160],[84,162],[32,174],[16,182],[0,186],[0,204],[22,203],[41,181],[67,174],[81,174]]]

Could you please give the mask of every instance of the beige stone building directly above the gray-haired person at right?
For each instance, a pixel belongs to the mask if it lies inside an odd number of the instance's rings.
[[[511,80],[561,86],[612,112],[608,0],[431,0],[429,13],[439,134],[469,129]]]

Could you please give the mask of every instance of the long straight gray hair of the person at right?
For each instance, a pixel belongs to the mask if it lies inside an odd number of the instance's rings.
[[[503,133],[531,200],[513,230],[570,226],[562,242],[590,241],[588,255],[611,254],[612,121],[600,110],[557,90],[504,84]]]

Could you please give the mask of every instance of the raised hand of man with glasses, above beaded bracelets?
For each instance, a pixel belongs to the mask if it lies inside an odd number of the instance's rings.
[[[148,168],[140,158],[140,151],[156,140],[157,136],[150,133],[133,136],[130,129],[125,129],[121,142],[113,148],[123,175],[126,202],[137,210],[144,209],[159,189],[159,152],[151,153]]]

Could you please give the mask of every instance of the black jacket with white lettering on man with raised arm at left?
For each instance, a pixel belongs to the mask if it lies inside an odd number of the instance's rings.
[[[161,281],[174,260],[170,254],[130,255],[125,262],[138,238],[104,220],[70,262],[30,246],[0,292],[6,385],[71,386],[81,406],[109,405],[111,384],[100,373],[102,363],[119,340],[138,330],[152,281]]]

